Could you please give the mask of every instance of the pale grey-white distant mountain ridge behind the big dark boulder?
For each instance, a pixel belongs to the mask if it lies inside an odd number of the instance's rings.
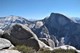
[[[23,17],[19,16],[7,16],[7,17],[0,17],[0,28],[5,29],[9,27],[11,24],[15,23],[21,23],[21,24],[27,24],[29,21]]]

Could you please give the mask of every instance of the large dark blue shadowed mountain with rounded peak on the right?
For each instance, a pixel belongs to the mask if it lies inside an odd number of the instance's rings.
[[[64,44],[80,49],[79,23],[75,23],[73,20],[59,13],[52,13],[44,22],[50,35],[56,36],[59,42],[64,37]]]

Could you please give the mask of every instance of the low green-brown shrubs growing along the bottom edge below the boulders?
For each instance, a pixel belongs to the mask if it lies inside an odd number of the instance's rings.
[[[77,53],[75,50],[71,50],[71,49],[70,50],[55,49],[53,51],[50,51],[48,49],[40,49],[39,51],[36,51],[33,48],[25,45],[18,45],[13,49],[18,50],[22,53]]]

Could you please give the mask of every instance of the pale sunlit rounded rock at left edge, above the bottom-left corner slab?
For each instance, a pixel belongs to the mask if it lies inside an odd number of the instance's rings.
[[[13,45],[11,44],[9,40],[0,38],[0,49],[9,49],[12,46]]]

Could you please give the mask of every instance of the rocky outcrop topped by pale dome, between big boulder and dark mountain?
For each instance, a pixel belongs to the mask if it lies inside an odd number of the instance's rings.
[[[34,25],[34,27],[32,27],[32,31],[38,36],[38,38],[46,38],[46,36],[48,36],[48,30],[47,27],[44,26],[42,21],[36,21],[35,23],[31,24],[31,26]]]

